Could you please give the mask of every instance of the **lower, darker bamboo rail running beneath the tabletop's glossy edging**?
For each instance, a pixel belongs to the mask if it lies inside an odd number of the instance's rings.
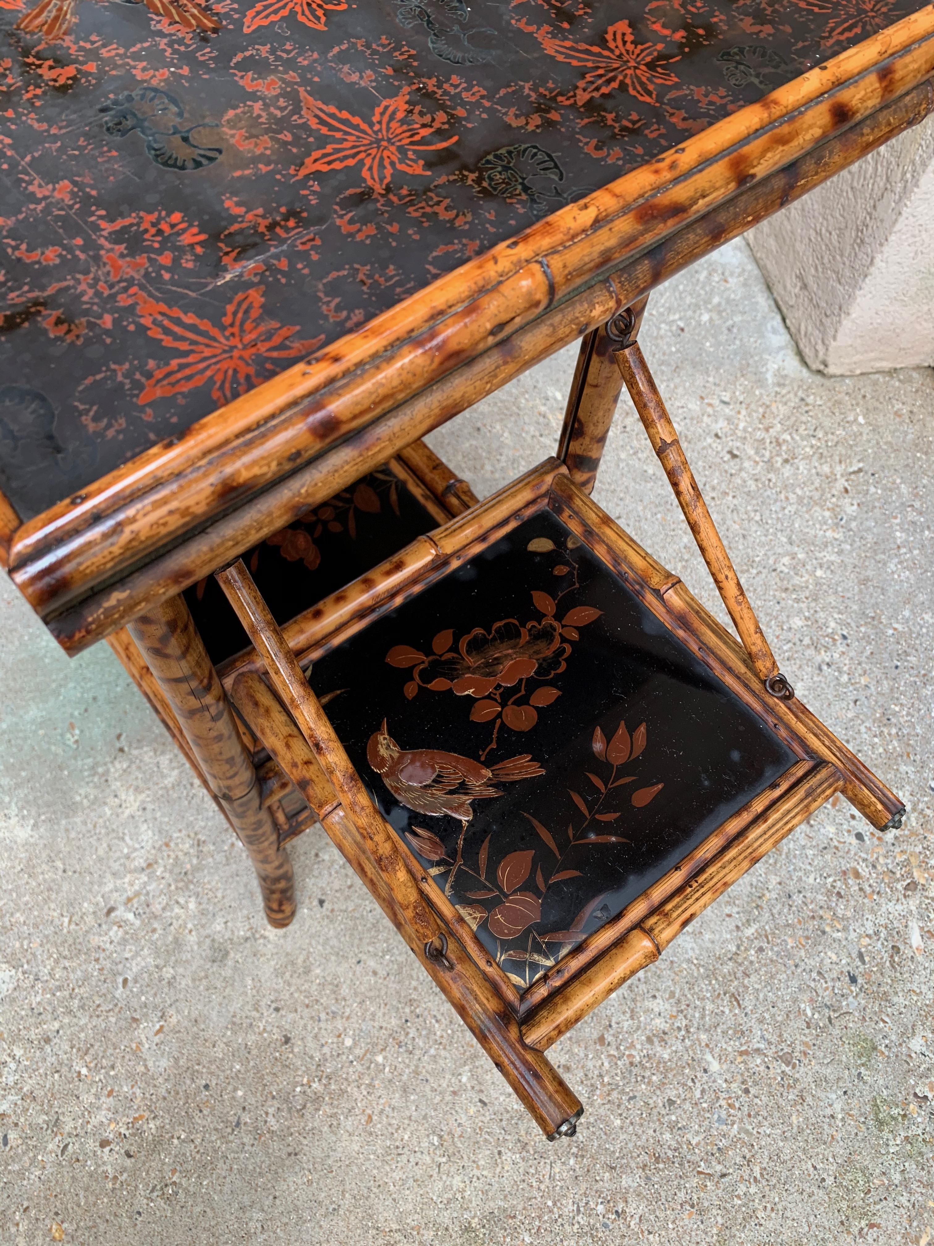
[[[100,587],[96,572],[85,573],[90,571],[85,567],[85,554],[98,537],[105,541],[103,531],[78,527],[67,540],[62,536],[61,545],[56,547],[57,521],[50,521],[46,532],[49,543],[41,549],[34,542],[30,546],[24,543],[17,549],[20,563],[12,572],[14,578],[46,619],[59,643],[70,653],[80,652],[110,630],[122,627],[134,613],[181,592],[270,532],[288,526],[309,506],[331,496],[335,488],[352,483],[361,472],[371,471],[405,445],[438,427],[548,354],[605,323],[654,285],[743,233],[907,126],[915,125],[930,112],[933,103],[930,86],[924,82],[765,179],[753,181],[730,202],[681,228],[672,227],[663,240],[639,248],[634,243],[633,249],[638,250],[635,258],[626,260],[608,278],[595,280],[533,324],[497,341],[486,354],[462,364],[417,397],[352,434],[306,467],[295,470],[262,496],[244,502],[222,518],[212,520],[194,536],[188,535],[179,546],[157,552],[139,569],[127,569],[116,548],[102,552],[101,576],[111,579],[121,577],[112,587]],[[846,111],[843,108],[841,116]],[[182,511],[186,505],[179,503]],[[90,518],[90,512],[86,518]],[[46,536],[41,540],[45,541]],[[123,532],[123,538],[132,546],[128,530]],[[35,542],[39,541],[40,532],[36,530]],[[34,561],[27,562],[32,554]],[[75,601],[75,604],[62,608],[61,603],[66,601]]]

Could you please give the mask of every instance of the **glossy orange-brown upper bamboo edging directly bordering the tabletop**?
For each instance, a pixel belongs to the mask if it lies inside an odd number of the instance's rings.
[[[244,505],[619,267],[620,257],[658,245],[910,91],[934,71],[932,31],[927,6],[24,525],[11,549],[22,591],[49,616],[219,508]],[[645,289],[628,290],[625,303]]]

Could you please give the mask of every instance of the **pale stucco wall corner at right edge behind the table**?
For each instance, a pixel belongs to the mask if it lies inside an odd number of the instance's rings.
[[[750,232],[811,368],[934,365],[934,117]]]

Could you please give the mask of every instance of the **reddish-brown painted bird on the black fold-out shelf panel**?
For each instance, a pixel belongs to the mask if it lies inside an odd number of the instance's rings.
[[[406,809],[430,817],[450,814],[465,825],[473,817],[471,801],[502,796],[497,784],[544,774],[528,753],[484,766],[441,749],[400,749],[386,730],[385,719],[370,736],[366,759]]]

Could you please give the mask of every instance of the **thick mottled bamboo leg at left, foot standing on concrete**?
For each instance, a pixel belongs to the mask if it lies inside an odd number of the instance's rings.
[[[181,597],[171,597],[141,614],[128,630],[249,854],[269,925],[288,926],[295,916],[291,862],[262,806],[257,771],[188,607]]]

